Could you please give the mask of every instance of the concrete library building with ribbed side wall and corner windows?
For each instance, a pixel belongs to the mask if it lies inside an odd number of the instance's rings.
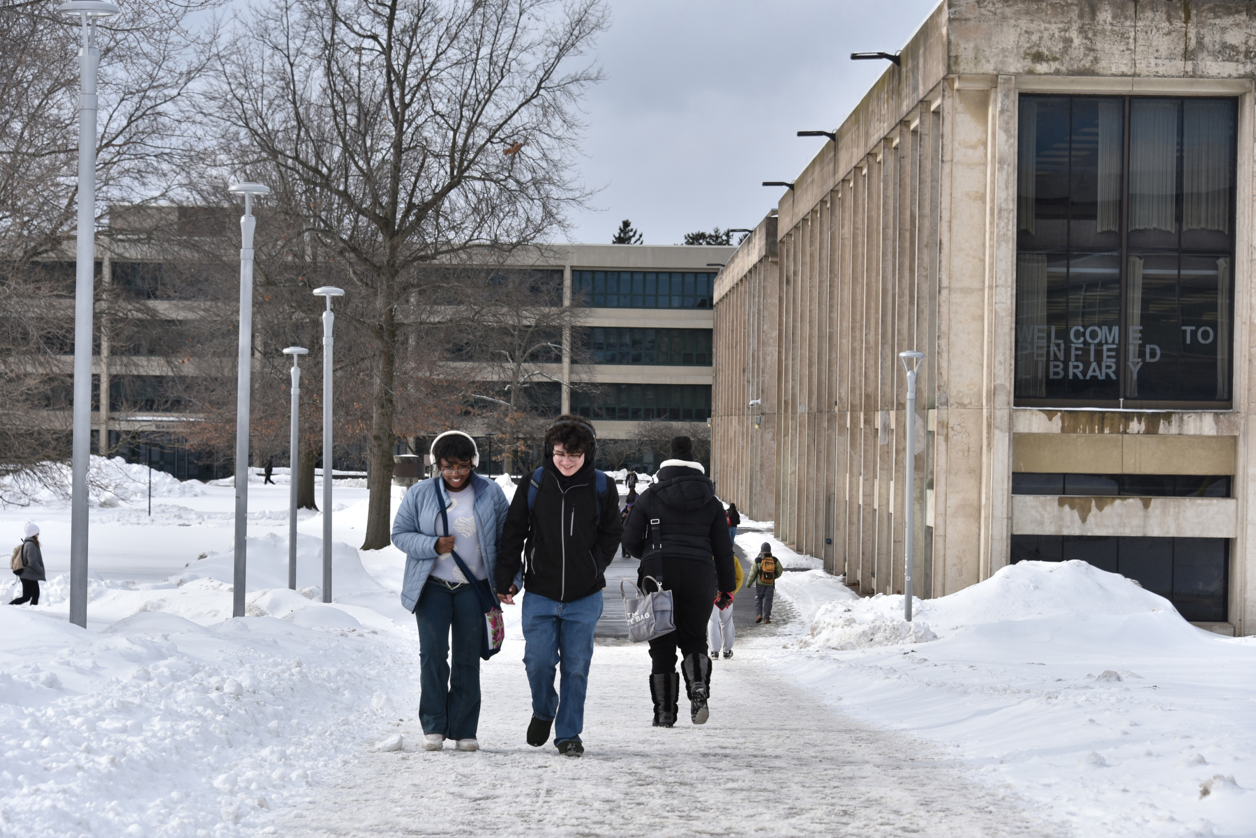
[[[720,494],[867,595],[912,514],[918,596],[1083,560],[1256,632],[1253,43],[945,0],[716,277]]]

